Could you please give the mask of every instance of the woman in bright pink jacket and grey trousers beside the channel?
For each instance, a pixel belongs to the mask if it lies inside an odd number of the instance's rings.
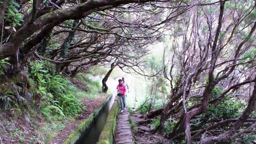
[[[125,103],[126,103],[126,87],[125,87],[125,85],[122,83],[122,80],[121,80],[121,79],[118,80],[118,83],[119,83],[119,84],[117,84],[116,89],[121,92],[120,95],[118,94],[118,96],[119,96],[119,100],[120,100],[121,113],[122,113],[122,112],[125,110]]]

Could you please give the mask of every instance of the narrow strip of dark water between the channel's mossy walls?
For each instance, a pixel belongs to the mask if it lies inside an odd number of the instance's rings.
[[[98,118],[92,124],[91,128],[84,135],[83,139],[79,142],[79,144],[96,144],[98,142],[100,133],[103,130],[103,127],[105,126],[105,123],[106,123],[107,117],[108,117],[108,113],[114,103],[114,100],[115,100],[115,96],[113,96],[113,94],[112,94],[107,105],[100,112]]]

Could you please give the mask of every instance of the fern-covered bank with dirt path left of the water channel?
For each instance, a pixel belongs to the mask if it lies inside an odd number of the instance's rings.
[[[40,78],[43,84],[26,74],[0,79],[6,91],[0,95],[0,144],[62,143],[108,96],[100,92],[99,82],[83,74],[73,79],[46,76]],[[27,80],[12,82],[19,77]]]

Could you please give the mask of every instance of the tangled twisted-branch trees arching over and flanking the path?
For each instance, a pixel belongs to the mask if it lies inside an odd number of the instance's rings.
[[[152,117],[160,117],[152,132],[187,144],[241,142],[244,137],[255,143],[255,1],[3,0],[0,4],[1,83],[5,84],[4,77],[27,76],[19,92],[1,88],[2,98],[28,95],[24,90],[31,87],[30,78],[39,98],[46,95],[42,88],[53,76],[73,78],[99,66],[111,68],[111,73],[119,67],[154,78],[152,91],[159,93],[164,82],[170,84],[163,106],[148,109],[157,112]],[[154,45],[160,42],[164,51],[156,66],[149,58],[150,48],[157,49]],[[107,79],[102,80],[103,87]],[[1,106],[6,102],[2,99]],[[168,121],[170,116],[177,122]],[[167,122],[173,125],[168,132]]]

